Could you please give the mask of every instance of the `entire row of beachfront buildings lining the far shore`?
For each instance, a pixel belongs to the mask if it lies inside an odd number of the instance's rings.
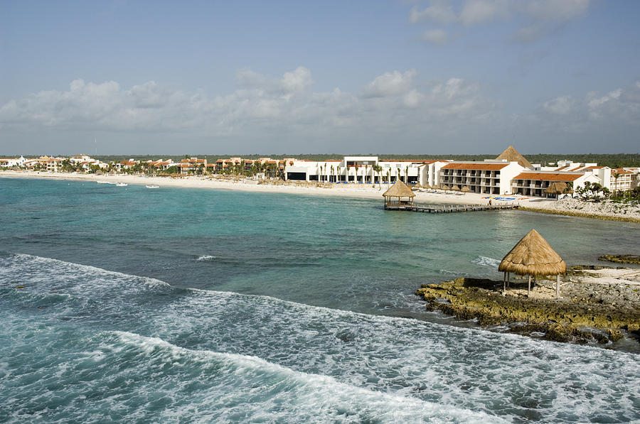
[[[393,184],[488,195],[550,196],[553,183],[576,190],[598,184],[612,192],[633,190],[640,185],[640,168],[609,168],[597,163],[558,161],[532,164],[513,146],[495,159],[484,161],[412,160],[385,161],[378,156],[344,156],[341,160],[307,161],[296,158],[218,159],[184,158],[180,162],[126,161],[105,163],[90,156],[69,158],[0,158],[0,168],[49,172],[153,173],[164,175],[251,175],[254,179],[280,178],[328,184]]]

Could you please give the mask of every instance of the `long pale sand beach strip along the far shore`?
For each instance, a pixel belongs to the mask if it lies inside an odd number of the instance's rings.
[[[235,190],[245,192],[277,192],[284,194],[299,195],[321,195],[352,197],[354,199],[382,200],[383,192],[388,185],[383,185],[380,189],[378,185],[325,185],[324,187],[314,187],[308,185],[270,184],[252,181],[247,183],[242,180],[219,180],[215,178],[203,178],[196,176],[186,176],[183,178],[172,177],[149,177],[146,175],[95,175],[95,174],[75,174],[75,173],[50,173],[45,171],[0,171],[0,178],[41,178],[48,180],[81,180],[81,181],[110,181],[112,183],[127,183],[131,185],[155,184],[160,187],[184,187],[184,188],[205,188],[213,190]],[[415,192],[414,201],[418,205],[429,204],[454,204],[454,205],[487,205],[489,200],[486,194],[466,192],[464,195],[447,195],[427,192]],[[629,216],[620,216],[612,212],[575,212],[569,207],[563,207],[560,202],[542,197],[516,197],[513,201],[492,200],[493,205],[518,205],[520,210],[526,212],[560,214],[571,217],[604,219],[618,222],[640,223],[640,209],[636,212],[631,210]]]

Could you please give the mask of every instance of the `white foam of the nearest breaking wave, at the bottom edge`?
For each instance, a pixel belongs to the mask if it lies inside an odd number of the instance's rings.
[[[284,366],[272,364],[258,357],[213,352],[210,350],[191,350],[176,347],[174,344],[157,337],[144,337],[130,332],[105,332],[103,337],[116,336],[121,342],[142,350],[152,357],[154,362],[159,355],[166,358],[164,363],[185,364],[185,366],[208,367],[212,362],[223,365],[225,385],[233,386],[231,391],[225,388],[229,398],[246,398],[255,396],[252,388],[260,387],[260,403],[250,404],[242,402],[242,413],[265,414],[265,418],[273,420],[274,415],[279,418],[289,418],[299,421],[300,415],[309,415],[318,421],[335,420],[341,415],[352,415],[347,422],[360,421],[361,418],[375,417],[383,423],[422,423],[425,420],[435,423],[489,423],[503,422],[501,418],[454,408],[444,407],[437,403],[422,401],[411,396],[397,396],[390,393],[380,393],[367,388],[343,384],[330,376],[307,374],[294,371]],[[160,352],[159,352],[160,351]],[[215,365],[214,366],[219,366]],[[242,384],[238,384],[242,381]],[[213,381],[220,383],[220,381]],[[239,409],[241,409],[239,408]],[[252,409],[255,408],[255,411]],[[230,415],[232,411],[225,411]],[[239,411],[234,411],[239,412]],[[291,415],[296,413],[297,415]],[[356,419],[359,418],[359,419]]]

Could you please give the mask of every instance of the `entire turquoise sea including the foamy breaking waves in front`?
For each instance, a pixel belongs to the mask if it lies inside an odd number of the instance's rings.
[[[413,295],[499,278],[531,228],[597,263],[637,250],[640,225],[380,203],[0,179],[0,422],[640,419],[637,354]]]

